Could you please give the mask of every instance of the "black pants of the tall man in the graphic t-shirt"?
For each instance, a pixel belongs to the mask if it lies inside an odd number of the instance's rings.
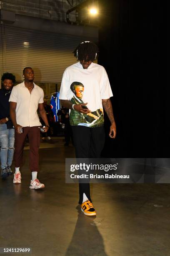
[[[72,125],[76,158],[99,158],[105,143],[104,127],[89,128]],[[79,183],[79,204],[82,204],[83,193],[91,201],[90,184]]]

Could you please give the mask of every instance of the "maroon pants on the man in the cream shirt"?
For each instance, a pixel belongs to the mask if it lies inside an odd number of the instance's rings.
[[[23,161],[23,150],[26,136],[28,135],[30,143],[30,170],[39,171],[39,146],[40,146],[40,128],[38,126],[23,127],[23,133],[18,134],[15,131],[15,167],[20,167]]]

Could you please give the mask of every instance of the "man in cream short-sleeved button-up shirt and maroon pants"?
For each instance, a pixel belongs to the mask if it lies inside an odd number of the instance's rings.
[[[39,109],[40,116],[45,123],[44,132],[49,128],[47,115],[43,106],[44,92],[34,81],[34,71],[30,67],[23,70],[24,82],[13,87],[10,95],[10,117],[15,127],[15,174],[13,183],[21,183],[20,165],[23,159],[23,149],[25,138],[28,135],[30,143],[30,170],[32,172],[31,189],[45,187],[37,179],[39,171],[40,146],[40,120],[37,115]]]

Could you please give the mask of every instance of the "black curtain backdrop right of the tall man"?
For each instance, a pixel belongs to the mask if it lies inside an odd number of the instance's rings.
[[[117,138],[103,157],[170,155],[166,1],[99,0],[98,64],[110,79]]]

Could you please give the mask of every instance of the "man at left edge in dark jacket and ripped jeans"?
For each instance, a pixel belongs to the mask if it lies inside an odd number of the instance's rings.
[[[15,76],[11,73],[2,75],[2,89],[0,89],[0,161],[1,177],[5,179],[12,174],[11,165],[14,154],[14,128],[10,120],[10,93],[15,83]]]

